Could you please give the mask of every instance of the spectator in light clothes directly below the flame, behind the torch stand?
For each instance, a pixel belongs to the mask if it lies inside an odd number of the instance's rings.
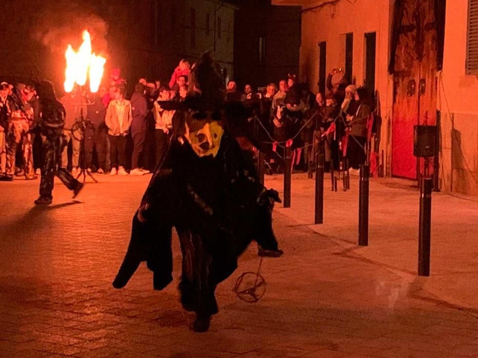
[[[77,174],[78,164],[79,164],[79,152],[80,152],[80,141],[82,133],[81,124],[78,124],[78,120],[81,120],[81,116],[86,116],[87,114],[87,105],[86,101],[81,97],[79,88],[73,88],[69,94],[65,95],[60,100],[61,104],[65,107],[66,117],[65,117],[65,127],[64,127],[64,136],[66,137],[65,148],[61,154],[61,166],[67,168],[68,166],[68,143],[71,142],[73,149],[71,164],[72,164],[72,174],[75,176]]]

